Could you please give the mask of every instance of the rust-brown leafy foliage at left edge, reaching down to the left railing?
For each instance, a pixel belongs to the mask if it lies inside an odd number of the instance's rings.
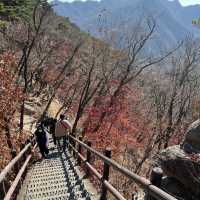
[[[22,89],[15,84],[15,79],[12,74],[13,68],[16,67],[15,56],[11,53],[0,55],[0,168],[11,159],[7,138],[5,135],[5,126],[9,119],[14,115],[19,102],[23,98]],[[18,138],[19,139],[19,138]],[[16,143],[16,138],[11,136],[13,143]]]

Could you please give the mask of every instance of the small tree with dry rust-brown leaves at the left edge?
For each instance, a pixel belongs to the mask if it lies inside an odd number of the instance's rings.
[[[16,58],[12,53],[4,53],[0,55],[0,132],[1,145],[6,145],[8,151],[11,152],[14,147],[14,140],[11,134],[11,125],[16,110],[19,108],[22,101],[23,91],[20,86],[13,83],[14,77],[10,69],[17,66]],[[5,142],[6,143],[5,143]],[[1,146],[4,151],[6,146]],[[4,151],[5,152],[5,151]]]

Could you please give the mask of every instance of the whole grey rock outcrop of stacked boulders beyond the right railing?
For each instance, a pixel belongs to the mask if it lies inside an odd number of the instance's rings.
[[[161,188],[184,200],[200,200],[200,119],[186,131],[184,142],[156,157],[166,177]]]

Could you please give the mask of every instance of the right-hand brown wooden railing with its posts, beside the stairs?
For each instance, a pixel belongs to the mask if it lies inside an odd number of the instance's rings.
[[[146,199],[148,200],[177,200],[175,197],[171,196],[170,194],[166,193],[165,191],[161,190],[156,186],[156,182],[153,179],[156,178],[157,180],[160,179],[161,176],[159,173],[156,173],[156,176],[152,177],[152,181],[147,180],[144,177],[141,177],[130,170],[126,169],[116,161],[111,159],[111,150],[106,149],[104,155],[99,153],[98,151],[91,148],[91,142],[87,142],[87,144],[83,143],[81,141],[82,139],[79,138],[79,140],[71,135],[69,135],[68,145],[69,148],[73,150],[74,154],[77,156],[78,164],[81,164],[81,161],[85,163],[86,165],[86,175],[89,176],[90,173],[95,175],[98,180],[102,182],[102,192],[101,192],[101,198],[100,200],[106,200],[107,199],[107,191],[109,191],[116,199],[118,200],[126,200],[123,195],[117,191],[116,188],[114,188],[111,183],[109,182],[109,168],[113,167],[115,170],[123,174],[124,176],[128,177],[130,180],[138,184],[141,188],[144,189],[146,194]],[[81,152],[82,147],[87,150],[87,157],[85,158]],[[91,154],[98,157],[100,160],[104,162],[104,170],[103,175],[100,174],[90,163],[91,161]],[[154,184],[156,183],[156,184]]]

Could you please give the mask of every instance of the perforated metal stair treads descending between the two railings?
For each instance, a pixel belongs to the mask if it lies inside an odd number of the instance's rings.
[[[59,152],[52,139],[49,147],[48,158],[28,170],[17,200],[90,200],[68,150]]]

